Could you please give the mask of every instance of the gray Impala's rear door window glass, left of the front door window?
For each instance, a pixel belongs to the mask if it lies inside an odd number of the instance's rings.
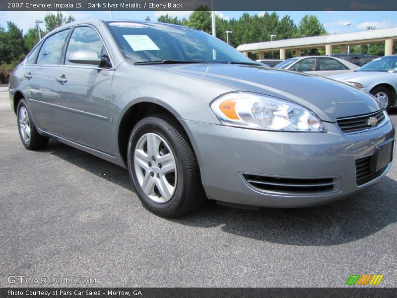
[[[40,49],[37,64],[59,64],[69,29],[55,33],[48,37]]]

